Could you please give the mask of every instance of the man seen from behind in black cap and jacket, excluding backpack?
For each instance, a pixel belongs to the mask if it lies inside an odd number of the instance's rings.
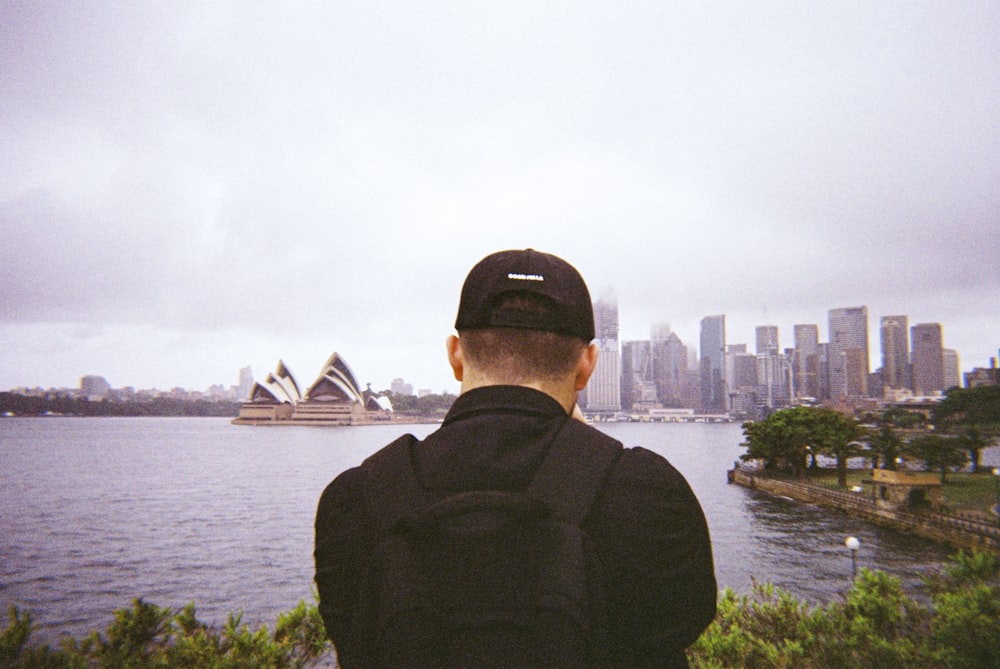
[[[490,255],[466,278],[455,328],[447,352],[460,396],[440,429],[408,446],[428,498],[526,490],[561,430],[574,435],[567,467],[598,457],[597,444],[608,437],[578,422],[566,430],[582,417],[577,394],[598,354],[590,294],[575,268],[530,249]],[[715,616],[705,518],[667,460],[642,448],[615,449],[580,523],[601,565],[602,662],[686,667],[685,648]],[[375,652],[359,633],[375,624],[359,599],[385,534],[372,517],[371,469],[366,461],[338,476],[316,517],[319,608],[348,669],[369,666]]]

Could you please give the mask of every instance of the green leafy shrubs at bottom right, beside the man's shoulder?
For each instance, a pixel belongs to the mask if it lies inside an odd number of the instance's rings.
[[[931,604],[899,579],[862,569],[843,601],[810,607],[771,585],[725,589],[715,621],[689,651],[692,667],[1000,667],[1000,563],[959,553],[926,578]]]

